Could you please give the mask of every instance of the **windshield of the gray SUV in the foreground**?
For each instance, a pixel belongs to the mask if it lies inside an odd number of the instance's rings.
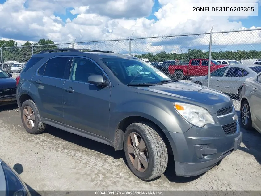
[[[106,58],[101,60],[125,85],[155,84],[166,80],[172,81],[164,73],[140,59]]]

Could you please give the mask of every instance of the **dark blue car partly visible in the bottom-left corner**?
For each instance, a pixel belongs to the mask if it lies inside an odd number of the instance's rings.
[[[0,159],[0,194],[3,196],[31,196],[18,173]]]

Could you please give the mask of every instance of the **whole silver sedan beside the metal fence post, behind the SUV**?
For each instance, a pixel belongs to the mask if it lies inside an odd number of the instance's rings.
[[[240,96],[246,78],[256,76],[260,72],[261,66],[258,65],[228,65],[210,73],[209,87]],[[208,76],[196,77],[190,82],[207,86]]]

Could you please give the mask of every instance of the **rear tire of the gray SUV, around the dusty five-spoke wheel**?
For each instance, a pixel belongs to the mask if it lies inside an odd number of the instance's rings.
[[[28,120],[28,123],[26,124],[26,111],[25,111],[25,114],[24,114],[24,110],[27,110],[27,113],[30,113],[28,112],[29,109],[32,109],[32,114],[34,115],[34,119],[32,118],[32,116],[30,117],[31,119],[27,119]],[[32,101],[32,100],[26,100],[25,102],[23,102],[22,104],[22,107],[21,107],[21,120],[22,120],[22,123],[23,123],[23,127],[25,128],[25,130],[28,132],[28,133],[31,133],[31,134],[38,134],[38,133],[41,133],[45,130],[45,127],[46,127],[46,124],[42,123],[41,121],[41,118],[40,118],[40,114],[39,114],[39,111],[35,105],[35,103]],[[33,124],[34,126],[32,128],[31,125],[33,121]]]

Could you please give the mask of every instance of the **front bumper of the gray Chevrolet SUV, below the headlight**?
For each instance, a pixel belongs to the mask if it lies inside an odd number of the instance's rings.
[[[237,150],[242,133],[226,135],[220,125],[192,127],[185,133],[164,131],[169,139],[177,176],[198,176],[213,168],[220,160]]]

